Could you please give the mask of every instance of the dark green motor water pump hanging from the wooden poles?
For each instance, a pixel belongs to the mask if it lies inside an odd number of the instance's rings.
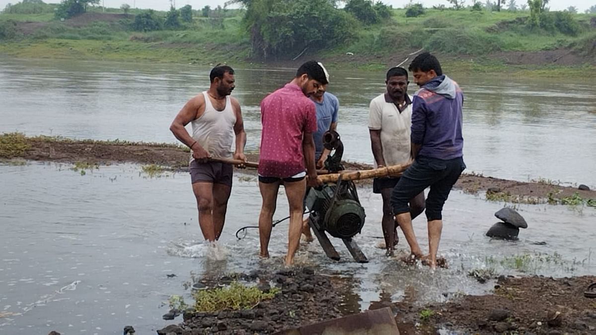
[[[343,170],[343,144],[339,134],[335,131],[325,132],[323,145],[328,150],[335,150],[325,160],[325,169],[330,173]],[[306,195],[305,204],[311,211],[309,225],[329,258],[339,260],[340,256],[326,233],[341,238],[357,262],[368,262],[362,250],[352,240],[354,235],[361,232],[366,217],[353,181],[342,181],[340,175],[337,183],[311,188]]]

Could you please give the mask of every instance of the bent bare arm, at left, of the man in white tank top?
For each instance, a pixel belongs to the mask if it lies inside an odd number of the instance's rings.
[[[188,134],[188,131],[184,127],[192,120],[201,116],[200,114],[202,113],[199,113],[199,110],[204,104],[205,99],[203,95],[197,95],[197,97],[188,100],[172,121],[172,125],[170,125],[170,131],[178,141],[181,141],[184,145],[191,148],[195,159],[209,158],[209,153],[207,153],[207,151]]]

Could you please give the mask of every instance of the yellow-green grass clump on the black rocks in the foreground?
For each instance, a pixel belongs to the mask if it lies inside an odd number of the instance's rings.
[[[280,291],[277,287],[272,287],[269,293],[265,293],[256,286],[248,287],[232,281],[229,287],[195,291],[193,297],[198,312],[215,312],[254,308],[262,300],[272,299]]]

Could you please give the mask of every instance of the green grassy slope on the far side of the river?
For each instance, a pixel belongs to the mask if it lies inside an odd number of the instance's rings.
[[[0,28],[4,27],[0,29],[0,54],[246,65],[255,60],[250,58],[249,34],[241,23],[243,11],[234,13],[233,17],[194,17],[179,30],[153,32],[133,31],[134,15],[86,13],[57,21],[46,13],[0,14]],[[530,29],[527,15],[523,11],[427,10],[408,18],[405,10],[393,10],[383,23],[354,27],[351,41],[333,49],[309,50],[296,62],[316,57],[331,67],[383,70],[424,48],[439,54],[449,72],[561,77],[596,70],[596,29],[590,26],[591,15],[573,15],[578,30],[567,34]],[[291,58],[273,63],[291,63]]]

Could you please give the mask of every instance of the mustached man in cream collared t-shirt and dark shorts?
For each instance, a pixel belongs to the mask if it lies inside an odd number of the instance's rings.
[[[406,164],[411,157],[410,133],[412,126],[412,99],[408,95],[408,71],[392,67],[387,71],[387,91],[371,100],[368,129],[373,148],[374,166],[380,168]],[[398,178],[375,178],[373,193],[383,197],[383,237],[387,256],[393,255],[398,243],[397,223],[391,209],[391,193]],[[424,211],[424,191],[409,201],[412,219]]]

